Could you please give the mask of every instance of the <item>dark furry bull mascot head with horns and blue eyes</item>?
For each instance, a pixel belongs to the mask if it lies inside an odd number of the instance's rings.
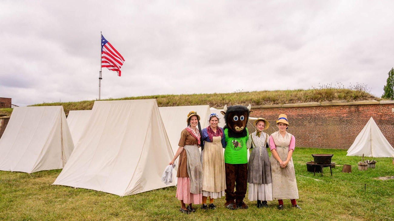
[[[247,125],[249,114],[251,114],[252,112],[250,110],[251,107],[252,106],[250,104],[248,107],[242,105],[234,105],[229,107],[227,107],[227,105],[224,106],[221,114],[224,115],[224,120],[226,122],[224,128],[229,129],[230,137],[239,138],[249,135],[246,133],[245,128]]]

